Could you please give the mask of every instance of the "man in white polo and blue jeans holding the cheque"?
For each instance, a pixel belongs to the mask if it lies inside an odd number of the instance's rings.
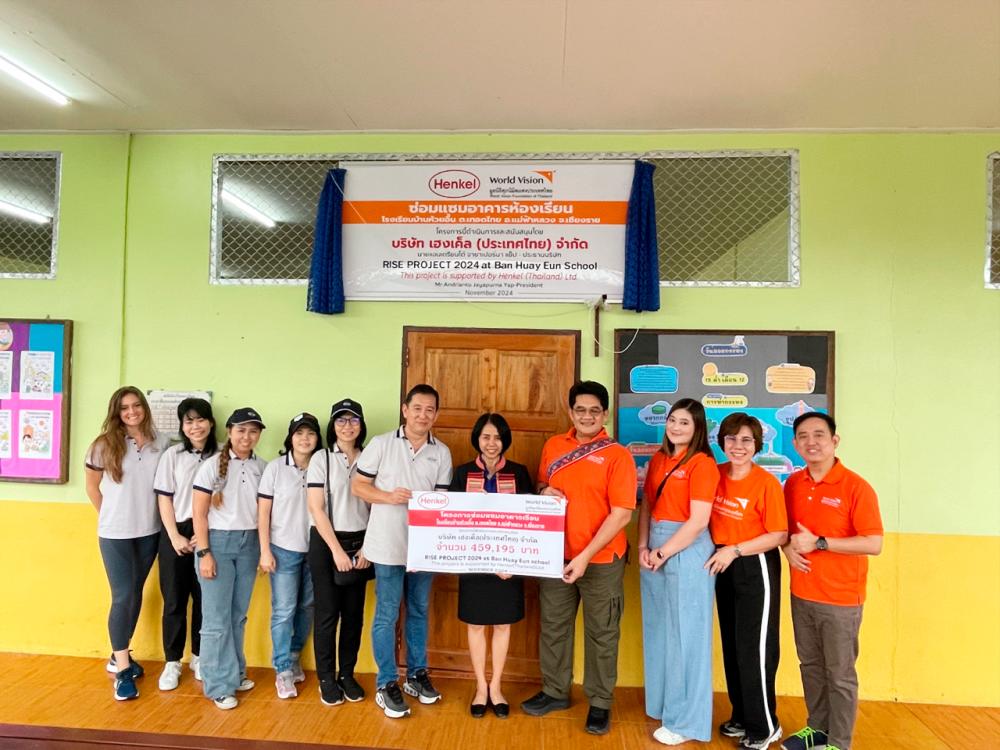
[[[424,383],[406,394],[403,425],[372,438],[357,463],[352,492],[371,503],[364,555],[375,564],[375,620],[372,650],[378,665],[375,702],[385,715],[399,719],[410,713],[396,668],[396,622],[406,592],[406,682],[403,690],[421,703],[441,694],[427,675],[427,609],[431,573],[407,573],[407,505],[414,492],[447,490],[451,452],[431,435],[437,420],[438,393]]]

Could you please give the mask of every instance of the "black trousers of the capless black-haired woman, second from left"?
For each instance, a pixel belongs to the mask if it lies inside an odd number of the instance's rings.
[[[194,521],[177,524],[181,536],[194,536]],[[194,555],[178,555],[165,529],[160,531],[160,593],[163,594],[163,657],[180,661],[187,637],[187,603],[191,600],[191,653],[201,653],[201,586]]]

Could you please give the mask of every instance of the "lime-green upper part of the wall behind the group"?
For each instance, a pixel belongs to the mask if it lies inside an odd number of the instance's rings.
[[[843,455],[878,488],[887,528],[1000,533],[1000,434],[983,419],[1000,413],[1000,293],[982,284],[998,134],[38,135],[0,148],[64,154],[58,278],[0,281],[0,310],[77,320],[72,482],[4,497],[83,500],[76,467],[119,368],[142,387],[211,388],[220,411],[253,403],[277,427],[272,453],[289,415],[346,393],[391,426],[407,324],[579,328],[583,374],[609,383],[616,327],[833,329]],[[351,303],[322,318],[302,287],[208,284],[215,153],[722,148],[799,150],[801,287],[666,289],[659,313],[602,316],[599,358],[582,305]],[[961,471],[930,447],[955,439]]]

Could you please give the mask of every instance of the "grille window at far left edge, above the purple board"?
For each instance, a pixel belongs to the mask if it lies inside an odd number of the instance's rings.
[[[57,152],[0,152],[0,278],[55,278],[59,166]]]

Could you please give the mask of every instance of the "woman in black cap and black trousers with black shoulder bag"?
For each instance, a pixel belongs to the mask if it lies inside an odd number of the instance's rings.
[[[312,525],[309,569],[316,596],[313,647],[320,700],[328,706],[365,697],[354,679],[354,667],[361,647],[365,591],[375,570],[361,551],[370,506],[351,493],[351,479],[366,434],[361,404],[349,398],[338,401],[330,409],[326,429],[329,448],[313,455],[307,476]]]

